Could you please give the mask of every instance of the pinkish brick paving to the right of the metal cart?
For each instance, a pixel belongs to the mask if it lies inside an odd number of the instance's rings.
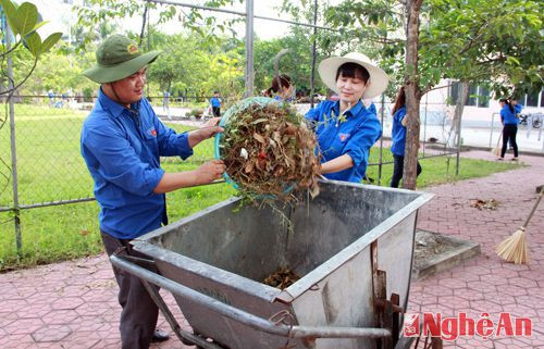
[[[481,151],[463,157],[494,159]],[[511,312],[533,320],[531,338],[460,338],[449,345],[452,348],[544,348],[544,204],[527,229],[529,265],[503,262],[494,251],[498,242],[524,223],[537,197],[535,187],[544,184],[544,158],[522,158],[530,166],[428,189],[435,197],[420,210],[418,227],[477,241],[482,254],[416,283],[409,310],[442,312],[447,316],[467,312],[477,319],[490,313],[495,321],[500,312]],[[470,207],[470,199],[496,199],[502,203],[496,211],[480,211]]]

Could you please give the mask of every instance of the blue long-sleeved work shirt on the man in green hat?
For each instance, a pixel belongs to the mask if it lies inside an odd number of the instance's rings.
[[[131,109],[139,113],[133,114],[100,89],[81,139],[100,205],[100,229],[120,239],[134,239],[166,224],[165,196],[153,192],[164,174],[160,157],[193,154],[188,135],[164,126],[146,98]]]

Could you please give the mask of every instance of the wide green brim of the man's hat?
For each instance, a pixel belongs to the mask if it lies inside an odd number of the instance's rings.
[[[152,63],[159,53],[161,53],[161,51],[147,52],[115,65],[101,65],[97,63],[91,68],[83,72],[83,75],[99,84],[121,80],[133,75],[145,65]]]

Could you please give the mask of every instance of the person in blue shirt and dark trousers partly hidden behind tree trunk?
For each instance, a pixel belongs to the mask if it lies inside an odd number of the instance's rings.
[[[398,183],[403,179],[405,169],[405,146],[406,146],[406,124],[408,115],[406,115],[406,94],[404,86],[400,87],[393,105],[393,144],[391,145],[391,152],[393,153],[393,177],[391,178],[391,186],[398,188]],[[421,164],[418,161],[418,176],[421,173]]]

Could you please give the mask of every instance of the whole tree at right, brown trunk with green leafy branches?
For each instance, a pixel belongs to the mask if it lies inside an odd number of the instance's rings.
[[[393,49],[381,54],[390,71],[404,72],[410,122],[403,182],[413,189],[421,97],[443,78],[493,82],[496,94],[516,84],[542,87],[542,11],[537,2],[522,0],[406,0],[400,4],[401,11],[393,0],[345,0],[329,10],[327,20],[360,30],[370,42],[379,41],[384,28],[392,33],[394,39],[387,34],[383,42]]]

